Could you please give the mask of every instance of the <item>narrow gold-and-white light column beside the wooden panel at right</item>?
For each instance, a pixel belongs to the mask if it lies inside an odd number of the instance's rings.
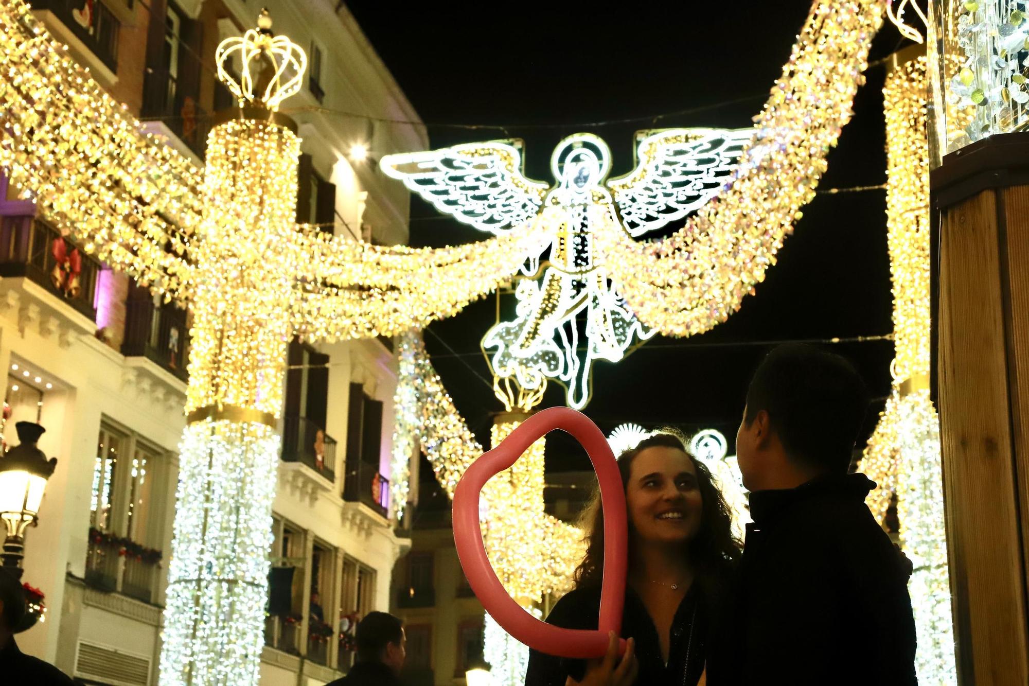
[[[868,505],[880,518],[897,499],[900,542],[918,631],[919,683],[956,684],[944,521],[939,419],[929,400],[929,143],[925,58],[899,66],[884,89],[887,236],[893,277],[893,392],[868,441],[862,470],[879,483]]]

